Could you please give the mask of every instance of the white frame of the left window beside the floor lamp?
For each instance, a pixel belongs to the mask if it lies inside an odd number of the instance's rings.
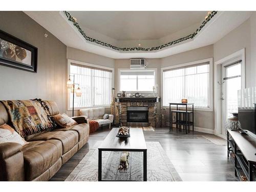
[[[73,60],[73,59],[68,59],[67,81],[68,81],[69,75],[70,75],[71,63],[76,63],[76,64],[83,65],[83,66],[95,67],[95,68],[99,68],[99,69],[111,70],[112,71],[112,87],[115,86],[115,79],[114,79],[115,78],[115,69],[114,68],[99,66],[99,65],[92,64],[92,63],[77,61],[77,60]],[[71,78],[71,80],[72,80],[72,78]],[[79,82],[75,82],[75,83],[79,83]],[[110,90],[110,93],[111,93],[111,90]],[[70,107],[70,94],[69,94],[68,89],[67,89],[67,103],[68,103],[68,111],[72,111],[72,107]],[[98,107],[101,107],[101,106],[103,106],[104,108],[110,108],[110,105],[97,105],[97,106],[83,106],[83,107],[79,107],[79,108],[74,108],[74,110],[88,109],[88,108],[98,108]]]

